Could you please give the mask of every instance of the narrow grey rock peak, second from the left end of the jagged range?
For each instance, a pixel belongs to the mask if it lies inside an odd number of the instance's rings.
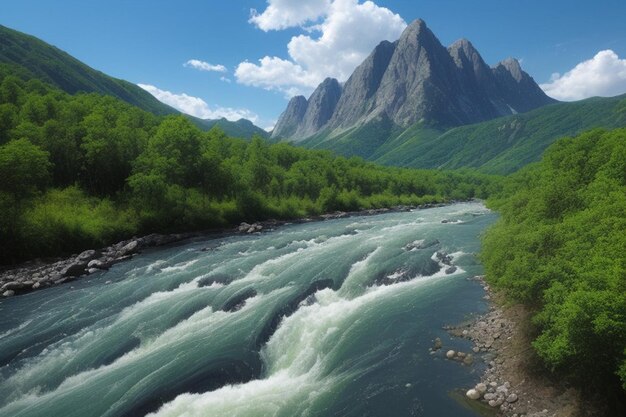
[[[295,136],[306,138],[317,133],[333,116],[340,97],[339,81],[326,78],[309,97],[306,112]]]

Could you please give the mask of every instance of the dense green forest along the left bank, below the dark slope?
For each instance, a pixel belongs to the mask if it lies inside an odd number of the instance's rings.
[[[498,179],[388,168],[203,132],[0,66],[0,263],[133,234],[484,198]]]

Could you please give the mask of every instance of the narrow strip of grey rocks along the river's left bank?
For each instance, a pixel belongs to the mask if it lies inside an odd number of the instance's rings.
[[[230,233],[260,233],[288,222],[302,223],[343,218],[356,215],[375,215],[393,211],[408,211],[439,207],[445,204],[424,204],[421,206],[398,206],[393,208],[372,209],[354,212],[337,211],[291,221],[268,220],[257,223],[241,223],[234,229],[211,230],[195,233],[150,234],[147,236],[123,240],[101,249],[88,249],[80,254],[54,260],[34,260],[15,268],[0,271],[0,296],[11,297],[31,291],[64,284],[82,276],[107,270],[116,263],[132,258],[142,250],[151,247],[169,245],[192,238],[211,237]]]

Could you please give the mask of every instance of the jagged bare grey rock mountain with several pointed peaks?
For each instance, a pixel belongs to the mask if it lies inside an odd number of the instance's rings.
[[[381,42],[343,88],[326,79],[308,100],[292,98],[272,137],[332,138],[369,123],[384,132],[417,122],[444,129],[554,102],[515,59],[491,68],[469,41],[446,48],[416,20],[397,41]]]

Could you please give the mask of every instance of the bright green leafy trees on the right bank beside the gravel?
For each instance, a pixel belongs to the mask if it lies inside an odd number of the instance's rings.
[[[626,129],[556,142],[490,204],[502,217],[484,238],[489,281],[536,312],[550,368],[624,406]]]

